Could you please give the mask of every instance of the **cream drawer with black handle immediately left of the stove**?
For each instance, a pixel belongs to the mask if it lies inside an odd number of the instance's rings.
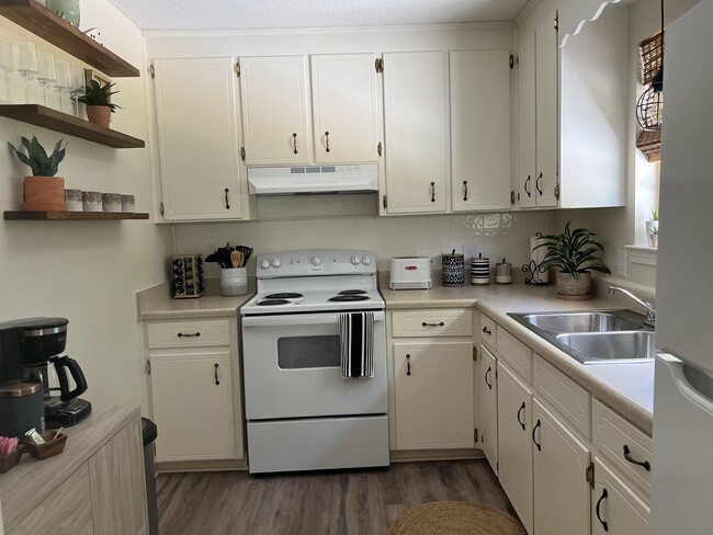
[[[151,321],[146,325],[148,348],[230,345],[230,323],[228,319]]]

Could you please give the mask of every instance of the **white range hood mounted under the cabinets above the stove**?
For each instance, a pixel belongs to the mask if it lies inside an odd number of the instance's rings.
[[[378,191],[376,163],[248,169],[248,193],[288,195]]]

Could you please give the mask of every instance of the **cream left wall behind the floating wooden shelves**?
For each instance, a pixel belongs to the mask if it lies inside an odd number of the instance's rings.
[[[99,26],[106,46],[145,71],[140,32],[107,0],[81,4],[81,27]],[[52,45],[0,19],[0,36]],[[69,59],[68,56],[64,55]],[[76,66],[80,65],[71,58]],[[147,139],[144,78],[116,79],[115,102],[124,107],[112,128]],[[138,212],[151,212],[148,149],[113,149],[0,117],[0,210],[20,209],[22,178],[30,174],[8,148],[36,135],[46,148],[64,138],[59,167],[66,187],[133,193]],[[83,396],[95,407],[142,403],[143,362],[135,292],[166,278],[171,228],[146,220],[0,221],[0,320],[33,316],[69,319],[67,354],[87,375]]]

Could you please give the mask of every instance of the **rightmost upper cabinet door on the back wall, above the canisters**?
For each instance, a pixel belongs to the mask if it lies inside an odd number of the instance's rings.
[[[510,208],[510,52],[449,57],[453,210]]]

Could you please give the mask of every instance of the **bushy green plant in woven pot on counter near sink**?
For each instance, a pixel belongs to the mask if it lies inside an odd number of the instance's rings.
[[[595,240],[595,232],[586,228],[569,229],[569,224],[559,235],[545,235],[539,238],[547,248],[542,260],[542,269],[557,269],[557,294],[563,299],[591,298],[591,271],[611,273],[611,270],[597,257],[603,252],[602,244]]]

